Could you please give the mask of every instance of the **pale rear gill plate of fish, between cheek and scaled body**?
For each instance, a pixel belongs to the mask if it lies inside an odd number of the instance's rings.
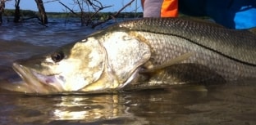
[[[149,60],[150,47],[126,31],[108,33],[103,41],[103,47],[107,51],[107,64],[117,77],[118,87],[124,87],[127,81],[136,77],[135,70]]]

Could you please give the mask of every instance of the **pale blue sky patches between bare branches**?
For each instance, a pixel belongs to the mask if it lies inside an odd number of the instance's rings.
[[[55,2],[48,2],[53,0],[43,0],[45,11],[47,12],[66,12],[66,8],[62,6],[58,1]],[[67,7],[73,8],[74,10],[79,11],[78,6],[74,5],[74,0],[59,0],[60,2],[64,3]],[[75,0],[76,1],[76,0]],[[125,6],[126,3],[130,2],[130,0],[98,0],[99,2],[103,3],[103,6],[112,6],[103,9],[103,12],[109,11],[119,11],[121,7]],[[137,2],[138,11],[142,11],[140,0],[135,0]],[[132,3],[131,6],[126,7],[123,12],[132,12],[135,11],[135,2]],[[14,9],[15,0],[11,0],[6,2],[6,9]],[[38,8],[34,2],[34,0],[21,0],[20,8],[22,10],[32,10],[38,11]]]

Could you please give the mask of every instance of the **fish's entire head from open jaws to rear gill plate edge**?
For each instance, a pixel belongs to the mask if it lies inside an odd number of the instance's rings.
[[[112,29],[43,56],[17,60],[13,68],[25,82],[20,92],[104,92],[135,82],[150,56],[141,37]]]

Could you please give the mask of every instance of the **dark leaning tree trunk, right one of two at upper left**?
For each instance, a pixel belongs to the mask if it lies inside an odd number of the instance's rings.
[[[43,7],[42,0],[34,0],[36,2],[37,7],[39,8],[40,20],[43,25],[48,24],[48,17]]]

